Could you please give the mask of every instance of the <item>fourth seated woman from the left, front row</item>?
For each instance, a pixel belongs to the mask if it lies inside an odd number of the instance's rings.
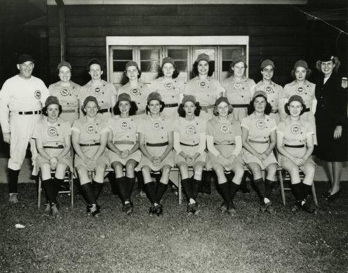
[[[139,168],[144,177],[145,189],[152,203],[150,214],[163,213],[161,198],[168,187],[169,172],[174,165],[173,158],[173,124],[171,119],[161,116],[164,102],[161,95],[151,92],[148,95],[146,111],[150,112],[139,121],[139,147],[143,152]],[[152,182],[151,171],[161,171],[161,179],[156,187]]]

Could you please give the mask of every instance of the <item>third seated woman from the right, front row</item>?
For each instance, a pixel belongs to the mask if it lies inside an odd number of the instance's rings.
[[[214,115],[207,122],[207,169],[214,169],[218,178],[218,190],[223,197],[222,213],[235,214],[233,198],[242,182],[244,167],[239,153],[242,151],[240,124],[228,117],[232,105],[226,97],[216,100]],[[232,171],[233,177],[226,177],[224,171]]]

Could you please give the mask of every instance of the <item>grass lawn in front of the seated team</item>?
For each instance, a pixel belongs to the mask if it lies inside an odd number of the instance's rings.
[[[252,192],[237,194],[235,216],[219,213],[217,194],[201,196],[200,214],[189,216],[168,190],[164,215],[151,217],[134,190],[135,213],[127,217],[106,183],[100,217],[85,215],[80,195],[70,208],[65,195],[63,219],[54,220],[38,212],[35,185],[19,184],[11,206],[2,184],[0,272],[348,272],[348,185],[331,206],[324,183],[316,185],[315,215],[293,213],[290,192],[284,207],[276,191],[274,215],[259,211]]]

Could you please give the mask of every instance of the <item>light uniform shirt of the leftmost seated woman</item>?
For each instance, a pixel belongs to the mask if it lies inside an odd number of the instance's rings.
[[[71,135],[69,122],[58,118],[55,124],[50,124],[44,117],[35,125],[32,138],[40,139],[42,146],[57,147],[65,145],[64,138],[67,135]]]

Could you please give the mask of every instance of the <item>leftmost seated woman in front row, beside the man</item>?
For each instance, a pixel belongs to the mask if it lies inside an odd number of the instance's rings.
[[[33,138],[35,139],[38,157],[35,164],[41,170],[42,188],[48,204],[45,212],[52,213],[53,217],[61,217],[56,204],[58,190],[63,183],[65,171],[72,170],[70,156],[70,123],[59,118],[62,107],[58,98],[49,96],[46,99],[42,113],[46,116],[35,125]],[[54,179],[51,170],[54,169]]]

